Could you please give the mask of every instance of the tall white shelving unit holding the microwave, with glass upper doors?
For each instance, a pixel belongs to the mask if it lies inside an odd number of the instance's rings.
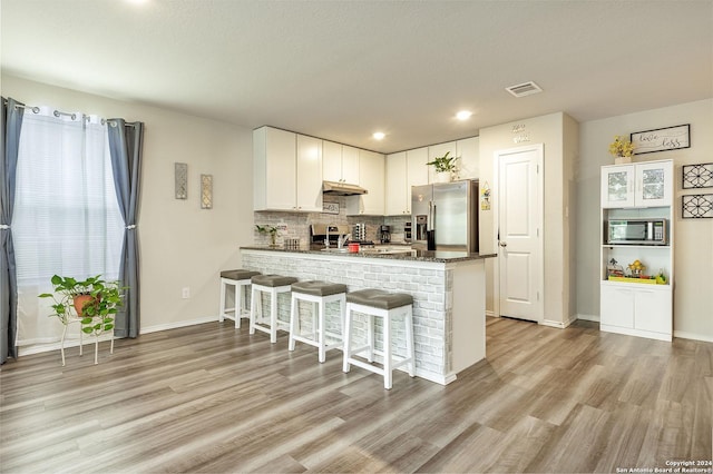
[[[646,161],[602,167],[599,328],[609,333],[673,338],[673,161]],[[667,245],[608,245],[608,219],[657,218],[667,220]],[[665,285],[611,282],[612,259],[627,268],[641,260],[645,274],[663,269]]]

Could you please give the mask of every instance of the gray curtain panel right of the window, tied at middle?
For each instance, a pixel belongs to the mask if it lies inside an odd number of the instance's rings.
[[[138,280],[139,255],[136,228],[138,214],[138,192],[141,176],[141,148],[144,124],[126,124],[124,119],[109,119],[109,152],[114,170],[116,197],[119,201],[126,230],[121,247],[119,280],[128,287],[124,306],[116,317],[117,337],[137,337],[140,325]]]

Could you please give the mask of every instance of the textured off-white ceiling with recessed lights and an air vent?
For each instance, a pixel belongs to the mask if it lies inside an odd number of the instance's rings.
[[[0,8],[3,73],[382,152],[555,111],[585,121],[713,97],[713,0]],[[505,90],[529,80],[545,91]],[[475,115],[457,121],[459,109]]]

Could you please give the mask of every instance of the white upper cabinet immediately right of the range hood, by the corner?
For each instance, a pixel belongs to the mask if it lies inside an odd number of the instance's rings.
[[[348,216],[383,216],[385,166],[384,156],[369,150],[359,150],[359,186],[365,195],[346,197]]]

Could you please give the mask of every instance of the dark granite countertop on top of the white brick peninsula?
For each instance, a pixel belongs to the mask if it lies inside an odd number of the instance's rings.
[[[470,254],[467,251],[448,251],[448,250],[411,250],[410,253],[398,254],[383,254],[378,250],[367,250],[359,253],[349,251],[324,251],[319,248],[283,248],[283,247],[270,247],[270,246],[245,246],[241,247],[242,250],[268,250],[287,254],[311,254],[332,257],[352,257],[352,258],[385,258],[390,260],[410,260],[410,261],[437,261],[437,263],[453,263],[453,261],[467,261],[477,260],[481,258],[492,258],[497,254]]]

